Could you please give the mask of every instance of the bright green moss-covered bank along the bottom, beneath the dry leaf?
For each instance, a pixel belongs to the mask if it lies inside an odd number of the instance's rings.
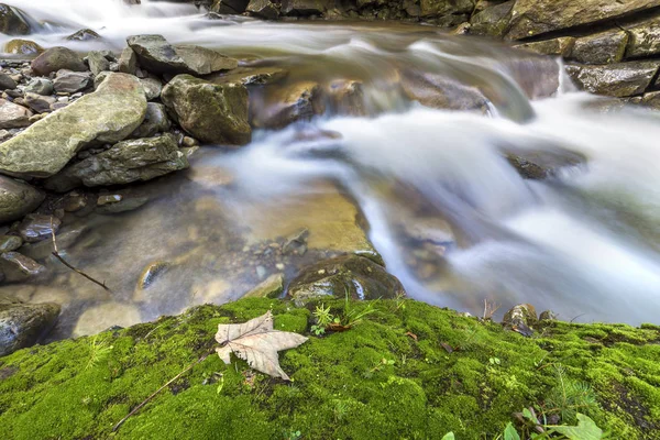
[[[212,355],[117,433],[131,408],[212,349],[218,323],[272,309],[277,329],[307,332],[311,314],[243,299],[21,350],[0,358],[0,438],[490,439],[513,411],[546,402],[557,364],[566,380],[591,384],[598,405],[587,414],[600,427],[615,438],[658,438],[658,327],[548,322],[522,338],[413,300],[372,307],[353,329],[280,353],[292,383]]]

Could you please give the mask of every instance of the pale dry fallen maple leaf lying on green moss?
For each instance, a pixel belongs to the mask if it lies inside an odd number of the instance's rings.
[[[298,333],[273,330],[273,314],[268,310],[248,322],[218,324],[216,341],[220,346],[216,352],[226,364],[231,363],[230,354],[233,352],[248,361],[252,369],[289,381],[289,376],[279,366],[277,352],[295,349],[307,339]]]

